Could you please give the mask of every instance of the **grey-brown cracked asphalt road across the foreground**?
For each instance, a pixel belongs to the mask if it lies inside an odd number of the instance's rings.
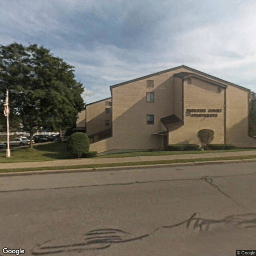
[[[1,177],[0,255],[256,250],[255,184],[255,162]]]

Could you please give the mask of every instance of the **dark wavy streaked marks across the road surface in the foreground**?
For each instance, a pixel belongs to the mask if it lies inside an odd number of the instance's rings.
[[[151,233],[141,236],[132,236],[131,233],[123,231],[121,229],[106,228],[90,230],[80,236],[80,241],[77,243],[63,243],[58,244],[58,240],[49,240],[43,244],[37,244],[32,250],[32,255],[46,255],[46,254],[58,254],[71,251],[86,251],[86,250],[103,250],[109,248],[112,244],[133,242],[136,240],[142,240],[148,236],[161,231],[162,229],[172,229],[179,226],[184,226],[186,229],[190,229],[192,232],[207,232],[210,228],[214,228],[216,224],[227,226],[240,226],[242,228],[256,228],[256,214],[246,213],[230,215],[220,220],[206,219],[196,217],[198,213],[193,213],[190,218],[172,224],[169,226],[160,226],[153,230]],[[251,225],[253,224],[253,225]],[[82,238],[81,238],[82,237]],[[72,238],[70,238],[72,239]],[[50,242],[50,243],[49,243]],[[52,244],[52,242],[55,244]]]

